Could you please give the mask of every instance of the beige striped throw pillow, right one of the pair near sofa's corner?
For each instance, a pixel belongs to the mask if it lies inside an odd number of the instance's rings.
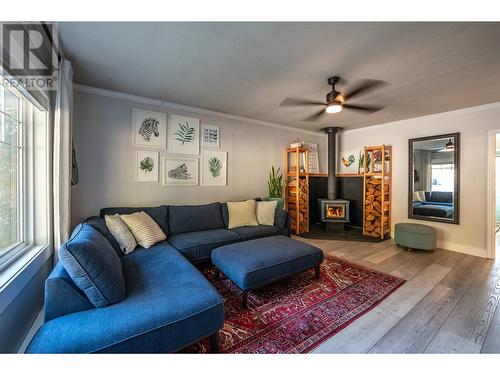
[[[145,249],[167,238],[156,221],[144,211],[120,217],[127,224],[137,243]]]

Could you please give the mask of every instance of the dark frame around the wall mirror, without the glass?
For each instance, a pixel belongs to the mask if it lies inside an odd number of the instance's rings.
[[[420,141],[430,141],[433,139],[454,138],[455,139],[455,176],[454,185],[455,191],[453,192],[453,219],[443,219],[438,217],[419,216],[413,214],[413,144]],[[460,133],[439,134],[430,137],[411,138],[408,140],[408,218],[415,220],[437,221],[447,224],[460,224]]]

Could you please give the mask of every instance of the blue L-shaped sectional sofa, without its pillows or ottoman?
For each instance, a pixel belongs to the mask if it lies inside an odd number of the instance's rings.
[[[148,213],[167,240],[123,255],[103,218],[137,211]],[[104,208],[99,217],[86,219],[79,226],[86,230],[77,227],[68,243],[111,245],[120,257],[125,299],[96,308],[59,262],[45,284],[44,324],[27,352],[170,353],[215,337],[224,324],[223,299],[193,264],[209,260],[212,250],[222,245],[290,235],[283,210],[276,211],[274,226],[229,230],[227,224],[227,206],[218,202]]]

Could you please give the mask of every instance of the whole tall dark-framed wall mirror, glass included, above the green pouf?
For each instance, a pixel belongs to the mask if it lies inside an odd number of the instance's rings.
[[[409,140],[408,217],[458,224],[460,133]]]

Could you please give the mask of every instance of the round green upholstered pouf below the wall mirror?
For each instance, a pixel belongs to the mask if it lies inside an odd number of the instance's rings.
[[[408,249],[433,250],[436,248],[436,230],[422,224],[398,223],[394,227],[394,240]]]

